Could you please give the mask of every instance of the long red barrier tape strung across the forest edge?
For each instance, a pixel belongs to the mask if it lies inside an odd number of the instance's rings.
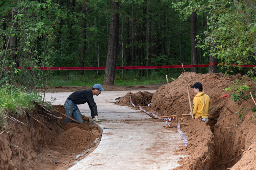
[[[219,63],[218,63],[219,64]],[[193,67],[209,67],[209,65],[217,66],[216,63],[209,64],[198,64],[198,65],[183,65],[183,68],[193,68]],[[237,64],[228,64],[228,66],[236,66]],[[219,66],[225,66],[225,63]],[[254,67],[253,65],[241,65],[241,67]],[[116,67],[116,70],[126,70],[126,69],[161,69],[161,68],[182,68],[182,65],[174,65],[174,66],[126,66],[126,67]],[[11,67],[6,68],[8,70]],[[21,69],[21,67],[17,67],[17,69]],[[28,67],[25,69],[30,70]],[[106,67],[39,67],[40,70],[105,70]]]

